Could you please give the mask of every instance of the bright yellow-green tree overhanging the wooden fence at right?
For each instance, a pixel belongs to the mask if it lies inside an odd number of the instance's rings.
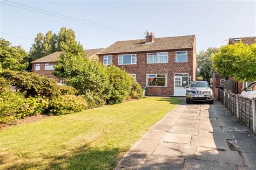
[[[256,43],[251,46],[242,42],[220,47],[212,56],[215,70],[224,77],[238,81],[256,80]]]

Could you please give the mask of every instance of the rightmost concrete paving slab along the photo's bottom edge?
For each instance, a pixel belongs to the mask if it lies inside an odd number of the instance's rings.
[[[216,169],[236,169],[233,164],[226,164],[223,162],[216,161],[206,161],[206,160],[197,160],[197,159],[185,159],[184,169],[202,169],[202,170],[216,170]]]

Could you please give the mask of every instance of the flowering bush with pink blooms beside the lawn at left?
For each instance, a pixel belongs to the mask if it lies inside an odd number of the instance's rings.
[[[34,116],[42,114],[48,108],[49,100],[41,96],[29,96],[25,99],[23,107],[18,110],[16,118],[24,118],[26,116]]]

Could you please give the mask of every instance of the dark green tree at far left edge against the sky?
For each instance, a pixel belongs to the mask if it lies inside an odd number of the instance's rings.
[[[11,46],[11,43],[0,38],[0,65],[3,69],[24,70],[28,67],[28,53],[21,46]]]

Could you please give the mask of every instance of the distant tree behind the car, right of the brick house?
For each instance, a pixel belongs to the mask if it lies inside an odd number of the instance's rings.
[[[208,48],[207,51],[200,51],[197,55],[198,62],[198,77],[203,77],[204,80],[210,80],[214,70],[211,60],[212,55],[217,53],[219,48]]]

